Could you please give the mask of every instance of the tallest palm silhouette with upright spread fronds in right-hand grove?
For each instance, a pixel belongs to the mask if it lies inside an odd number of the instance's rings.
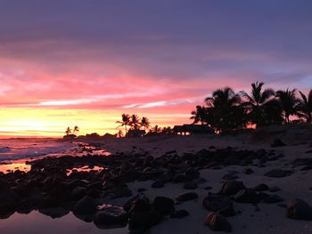
[[[273,89],[265,89],[262,91],[263,82],[256,82],[251,84],[251,93],[242,93],[242,97],[247,101],[243,103],[243,106],[247,109],[247,117],[253,124],[259,126],[264,124],[264,106],[275,95]]]

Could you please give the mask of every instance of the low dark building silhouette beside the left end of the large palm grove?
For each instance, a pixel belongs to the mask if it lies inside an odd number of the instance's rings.
[[[175,125],[173,131],[181,135],[212,134],[214,130],[208,125]]]

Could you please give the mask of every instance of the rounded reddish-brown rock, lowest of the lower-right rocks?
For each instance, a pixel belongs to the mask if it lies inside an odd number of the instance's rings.
[[[211,230],[226,231],[226,232],[232,230],[232,226],[226,220],[226,218],[223,215],[217,214],[215,212],[208,214],[205,224],[209,226]]]

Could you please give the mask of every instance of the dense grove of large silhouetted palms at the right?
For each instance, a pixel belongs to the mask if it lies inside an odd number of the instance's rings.
[[[218,89],[205,98],[204,105],[192,111],[193,124],[209,125],[218,133],[265,125],[312,122],[312,89],[308,95],[296,89],[264,88],[251,84],[250,93],[235,93],[230,87]]]

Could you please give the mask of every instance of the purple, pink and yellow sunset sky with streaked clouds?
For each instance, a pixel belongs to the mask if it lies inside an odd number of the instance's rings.
[[[216,88],[312,87],[312,1],[0,0],[0,135],[191,123]]]

